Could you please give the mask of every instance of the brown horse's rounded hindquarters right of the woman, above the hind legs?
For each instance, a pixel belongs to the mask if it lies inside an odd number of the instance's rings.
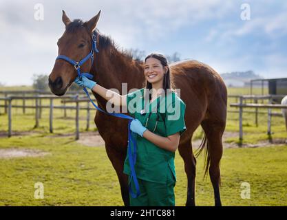
[[[180,98],[187,105],[185,120],[190,132],[209,117],[225,123],[227,89],[220,74],[198,61],[171,63],[170,68],[173,83],[180,89]]]

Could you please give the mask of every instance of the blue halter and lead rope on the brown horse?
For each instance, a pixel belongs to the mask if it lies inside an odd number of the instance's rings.
[[[72,60],[71,58],[65,56],[65,55],[59,55],[56,57],[56,60],[64,60],[67,61],[68,63],[72,64],[74,66],[74,68],[76,69],[77,73],[78,73],[78,77],[81,78],[81,76],[86,76],[89,79],[92,79],[94,76],[92,74],[89,73],[81,73],[81,65],[83,65],[87,60],[89,60],[89,58],[92,59],[92,63],[94,63],[94,53],[98,53],[98,49],[96,48],[96,31],[93,32],[92,34],[92,50],[91,52],[89,52],[89,54],[87,54],[87,56],[85,58],[83,58],[83,60],[76,62],[74,60]],[[94,105],[94,107],[98,110],[101,111],[107,115],[113,115],[115,117],[118,118],[125,118],[129,120],[129,124],[128,124],[128,137],[129,137],[129,141],[128,141],[128,153],[129,153],[129,166],[131,168],[131,180],[134,181],[134,185],[136,187],[136,193],[133,192],[133,190],[131,189],[131,186],[129,185],[129,192],[131,193],[131,197],[136,198],[140,195],[140,186],[138,185],[138,179],[136,178],[136,170],[134,168],[134,166],[136,165],[136,138],[134,136],[134,133],[131,132],[130,130],[130,124],[131,121],[134,120],[134,118],[132,118],[129,115],[125,115],[122,113],[107,113],[106,111],[103,111],[102,109],[100,109],[99,107],[96,106],[96,104],[93,102],[93,100],[90,98],[89,96],[89,92],[87,91],[87,89],[84,87],[83,90],[85,91],[85,94],[87,94],[87,97],[89,98],[89,100],[92,102],[92,104]],[[131,143],[134,145],[134,152],[131,151]],[[130,181],[131,184],[131,181]]]

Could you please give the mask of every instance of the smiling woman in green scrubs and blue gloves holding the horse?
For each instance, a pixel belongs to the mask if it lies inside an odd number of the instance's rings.
[[[130,129],[138,134],[135,170],[140,195],[136,198],[130,195],[130,205],[174,206],[174,155],[180,135],[186,130],[185,104],[172,90],[167,58],[162,54],[150,54],[145,58],[144,68],[146,88],[125,96],[105,89],[85,77],[76,78],[75,82],[92,89],[108,101],[112,98],[115,105],[127,107],[129,114],[136,118],[131,122]],[[129,185],[131,190],[135,191],[134,181],[131,181],[128,154],[124,173],[129,175]]]

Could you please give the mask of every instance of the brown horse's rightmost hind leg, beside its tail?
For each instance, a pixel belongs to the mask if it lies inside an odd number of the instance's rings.
[[[207,137],[208,154],[210,157],[209,176],[214,190],[215,206],[221,206],[220,200],[220,159],[222,157],[222,134],[225,121],[202,121],[202,128]]]

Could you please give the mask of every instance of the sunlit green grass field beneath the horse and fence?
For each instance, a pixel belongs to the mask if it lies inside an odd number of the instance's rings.
[[[229,94],[248,94],[246,89],[229,89]],[[228,100],[235,102],[235,100]],[[3,103],[3,102],[0,102]],[[31,103],[32,104],[32,103]],[[59,103],[56,103],[59,104]],[[230,108],[228,108],[230,109]],[[0,109],[0,150],[30,149],[48,153],[43,157],[0,158],[0,206],[123,206],[116,172],[105,153],[104,146],[89,147],[74,141],[74,115],[67,111],[54,112],[54,133],[49,133],[48,111],[42,113],[40,127],[34,129],[34,110],[13,110],[12,131],[28,132],[10,138],[7,115]],[[266,111],[266,110],[263,110]],[[89,131],[96,130],[91,112]],[[226,131],[238,132],[238,114],[228,113]],[[85,111],[81,111],[81,131],[85,131]],[[244,142],[268,140],[266,115],[244,113]],[[286,138],[283,118],[274,117],[272,137]],[[63,134],[63,135],[62,135]],[[194,139],[202,137],[198,129]],[[228,142],[237,142],[229,137]],[[209,177],[203,179],[204,155],[198,157],[195,203],[213,206],[213,189]],[[285,144],[257,148],[226,148],[221,161],[221,196],[224,206],[287,206],[287,146]],[[184,164],[176,153],[176,206],[184,206],[187,178]],[[44,199],[35,199],[34,184],[44,186]],[[250,184],[250,199],[242,199],[241,184]]]

